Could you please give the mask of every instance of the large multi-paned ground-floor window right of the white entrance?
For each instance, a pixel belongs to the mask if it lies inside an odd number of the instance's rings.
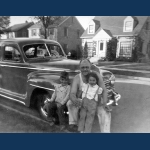
[[[131,57],[132,45],[131,41],[120,43],[120,56]]]

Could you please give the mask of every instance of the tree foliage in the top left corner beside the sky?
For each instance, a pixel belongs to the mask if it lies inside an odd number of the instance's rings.
[[[9,26],[10,16],[0,16],[0,29],[5,29]]]

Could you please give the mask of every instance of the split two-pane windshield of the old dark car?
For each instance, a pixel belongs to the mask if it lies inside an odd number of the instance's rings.
[[[23,47],[27,58],[58,58],[64,56],[59,45],[56,44],[30,44]]]

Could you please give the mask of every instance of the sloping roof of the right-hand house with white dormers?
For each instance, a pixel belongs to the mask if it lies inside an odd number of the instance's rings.
[[[141,31],[145,21],[147,20],[148,16],[132,16],[133,19],[138,21],[137,26],[134,28],[132,32],[123,32],[123,25],[124,25],[124,19],[127,16],[96,16],[94,20],[97,20],[100,22],[100,28],[109,30],[110,33],[115,35],[135,35],[139,34]],[[81,38],[91,36],[91,34],[88,34],[88,29],[82,34]],[[99,30],[99,29],[98,29]],[[97,31],[93,36],[97,34]]]

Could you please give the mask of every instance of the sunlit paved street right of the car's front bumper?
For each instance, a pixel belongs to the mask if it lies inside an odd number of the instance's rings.
[[[119,106],[112,113],[112,132],[150,132],[150,82],[118,79]]]

